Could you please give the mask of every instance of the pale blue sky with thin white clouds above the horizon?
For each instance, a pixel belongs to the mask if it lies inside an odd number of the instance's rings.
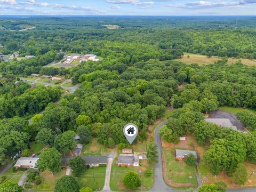
[[[256,15],[256,0],[0,0],[0,15]]]

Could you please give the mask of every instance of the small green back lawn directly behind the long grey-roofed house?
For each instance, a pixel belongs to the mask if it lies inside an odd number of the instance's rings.
[[[107,153],[107,148],[101,145],[97,139],[92,139],[89,144],[84,145],[82,150],[82,155],[105,155]]]

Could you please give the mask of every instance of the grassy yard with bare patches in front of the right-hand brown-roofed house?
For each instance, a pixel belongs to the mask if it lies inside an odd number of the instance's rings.
[[[195,167],[188,166],[185,162],[175,161],[175,149],[177,148],[163,147],[162,149],[165,182],[167,180],[166,183],[172,187],[196,187],[197,179]]]

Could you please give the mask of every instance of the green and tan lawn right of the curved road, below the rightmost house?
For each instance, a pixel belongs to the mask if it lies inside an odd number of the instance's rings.
[[[173,183],[191,183],[197,186],[196,169],[185,162],[177,162],[174,157],[174,148],[163,148],[166,162],[167,178]],[[192,177],[191,179],[189,177]]]

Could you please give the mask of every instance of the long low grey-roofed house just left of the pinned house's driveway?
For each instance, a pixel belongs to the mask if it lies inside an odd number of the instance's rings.
[[[91,155],[91,156],[81,156],[81,157],[84,159],[85,164],[89,166],[99,166],[102,164],[107,165],[107,162],[108,162],[107,156]],[[74,157],[71,157],[71,156],[62,157],[61,166],[68,167],[68,161],[71,158],[74,158]]]

